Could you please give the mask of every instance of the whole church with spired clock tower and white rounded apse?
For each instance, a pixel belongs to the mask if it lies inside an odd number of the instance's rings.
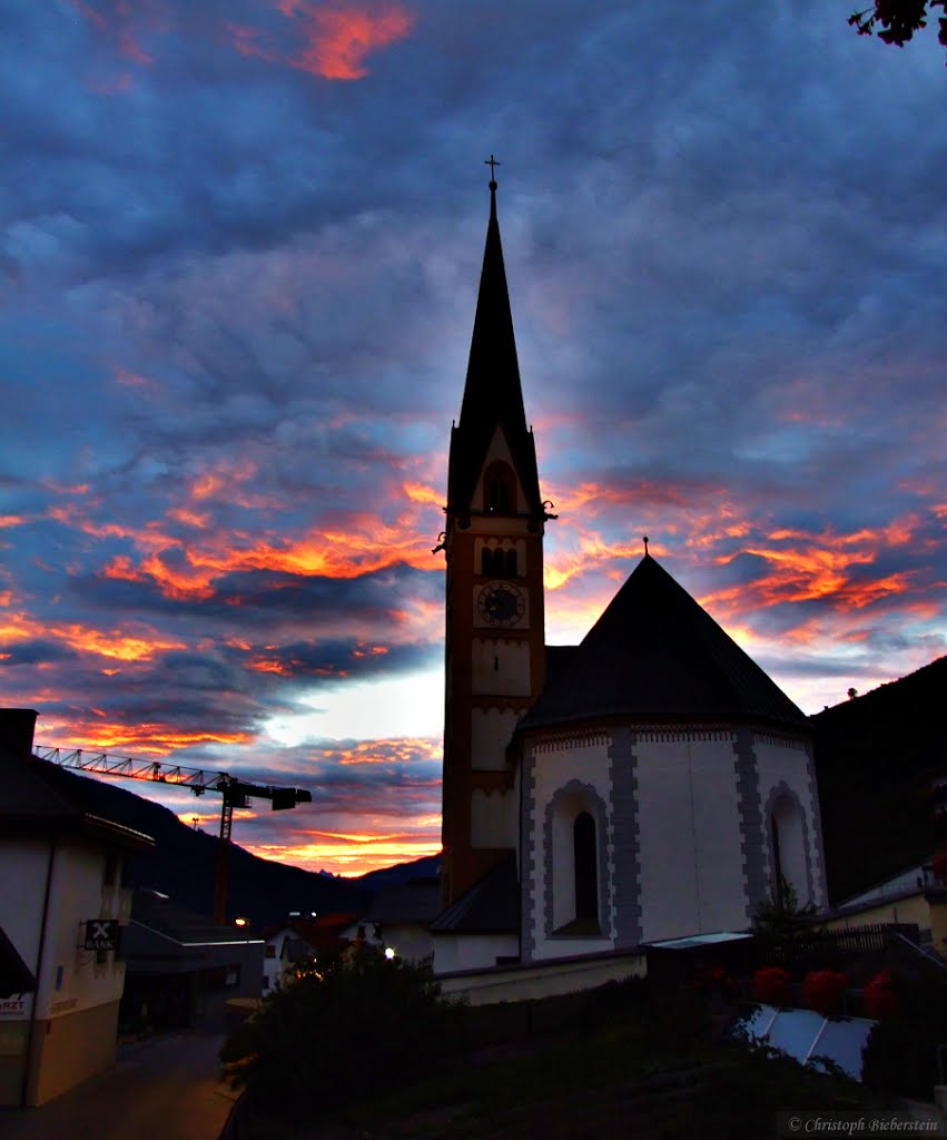
[[[491,166],[492,173],[492,166]],[[439,974],[745,930],[826,905],[806,717],[647,553],[545,641],[554,518],[526,426],[497,184],[446,527]]]

